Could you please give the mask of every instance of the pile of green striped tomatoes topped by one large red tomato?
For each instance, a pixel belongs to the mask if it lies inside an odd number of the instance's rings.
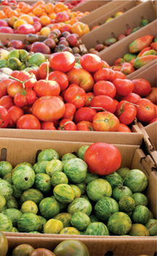
[[[109,143],[62,157],[47,148],[34,165],[1,161],[0,231],[156,236],[157,220],[143,194],[148,178],[120,166],[121,153]]]

